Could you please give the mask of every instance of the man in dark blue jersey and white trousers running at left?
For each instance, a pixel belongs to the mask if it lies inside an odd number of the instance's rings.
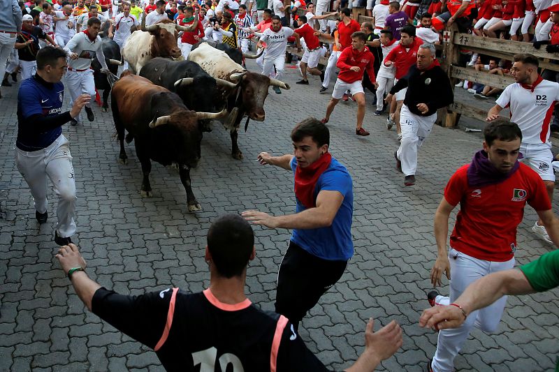
[[[37,73],[20,85],[17,94],[17,170],[29,185],[38,223],[47,222],[47,177],[59,197],[55,241],[71,243],[75,232],[75,180],[70,145],[61,126],[78,117],[91,99],[78,97],[70,111],[62,112],[66,53],[56,47],[38,51]]]

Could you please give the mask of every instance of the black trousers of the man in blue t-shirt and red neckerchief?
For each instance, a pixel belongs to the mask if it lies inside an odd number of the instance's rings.
[[[346,267],[347,261],[323,260],[290,241],[279,265],[275,312],[297,328],[307,311],[342,277]]]

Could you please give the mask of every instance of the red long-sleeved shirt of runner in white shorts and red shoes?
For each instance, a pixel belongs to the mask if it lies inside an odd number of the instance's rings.
[[[377,81],[375,78],[375,56],[372,55],[368,47],[365,47],[363,52],[359,52],[353,47],[345,48],[342,50],[340,57],[337,58],[336,66],[340,68],[340,73],[337,77],[344,82],[352,83],[363,80],[365,69],[369,75],[369,80],[372,83]],[[350,70],[353,66],[360,68],[358,73]]]

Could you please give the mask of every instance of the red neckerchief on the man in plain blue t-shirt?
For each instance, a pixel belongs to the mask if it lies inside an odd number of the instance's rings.
[[[317,206],[314,202],[314,187],[317,186],[319,177],[328,169],[331,161],[331,154],[326,152],[326,154],[306,168],[301,168],[297,164],[295,170],[295,196],[303,204],[303,207],[309,209]]]

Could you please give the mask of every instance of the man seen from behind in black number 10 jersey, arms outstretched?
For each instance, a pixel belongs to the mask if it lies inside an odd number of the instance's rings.
[[[247,265],[255,256],[249,223],[227,214],[208,230],[210,286],[203,292],[119,295],[87,276],[74,244],[61,247],[57,259],[89,311],[152,348],[167,371],[328,371],[283,315],[261,310],[245,295]],[[347,371],[374,371],[402,345],[394,320],[378,332],[372,326],[370,319],[365,350]]]

